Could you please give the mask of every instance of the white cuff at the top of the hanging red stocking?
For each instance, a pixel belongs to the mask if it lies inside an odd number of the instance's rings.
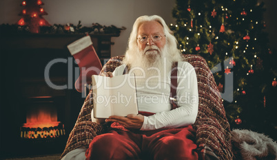
[[[70,54],[73,56],[74,54],[81,52],[81,50],[85,49],[86,47],[89,47],[90,45],[92,45],[92,40],[90,39],[90,36],[84,36],[83,38],[74,41],[74,43],[68,45],[68,50],[70,51]]]

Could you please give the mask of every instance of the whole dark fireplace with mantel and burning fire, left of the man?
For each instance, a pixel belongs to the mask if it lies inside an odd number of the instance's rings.
[[[0,36],[0,159],[63,152],[85,100],[74,89],[79,67],[66,46],[83,36]],[[101,62],[110,58],[112,36],[119,35],[91,35]]]

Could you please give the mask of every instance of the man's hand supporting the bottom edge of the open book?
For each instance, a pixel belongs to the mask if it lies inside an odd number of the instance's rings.
[[[143,126],[144,117],[143,115],[134,115],[130,114],[127,115],[127,117],[112,115],[108,119],[106,119],[106,122],[119,122],[119,124],[122,124],[125,126],[125,128],[130,129],[140,129],[141,126]]]

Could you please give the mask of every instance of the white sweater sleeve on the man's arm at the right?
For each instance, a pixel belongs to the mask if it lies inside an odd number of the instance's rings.
[[[141,130],[177,128],[194,124],[198,113],[198,85],[194,67],[188,62],[178,63],[178,108],[144,117]]]

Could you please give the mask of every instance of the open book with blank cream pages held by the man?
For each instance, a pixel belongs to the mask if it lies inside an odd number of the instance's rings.
[[[134,73],[114,76],[92,75],[94,118],[138,114]]]

